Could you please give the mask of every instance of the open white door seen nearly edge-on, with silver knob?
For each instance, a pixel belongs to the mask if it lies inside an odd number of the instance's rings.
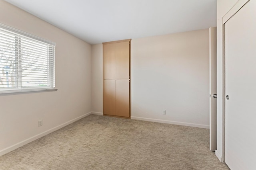
[[[217,42],[216,27],[210,27],[210,150],[217,149]]]

